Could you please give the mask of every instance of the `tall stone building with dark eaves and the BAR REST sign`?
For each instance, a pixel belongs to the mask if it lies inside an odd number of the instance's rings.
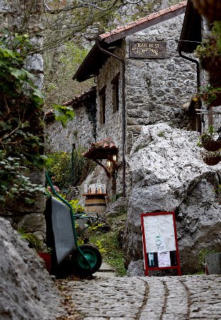
[[[119,149],[116,193],[130,191],[126,159],[141,127],[165,122],[174,128],[196,129],[195,110],[183,108],[196,92],[196,67],[177,51],[185,6],[183,1],[101,34],[73,77],[79,82],[96,79],[96,140],[110,137]],[[70,126],[73,136],[75,127]],[[48,137],[52,139],[50,132]],[[89,133],[84,138],[86,147],[90,139]]]

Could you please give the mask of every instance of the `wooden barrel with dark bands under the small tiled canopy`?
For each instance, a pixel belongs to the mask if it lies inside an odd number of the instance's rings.
[[[104,213],[106,210],[106,201],[105,196],[99,195],[99,193],[95,195],[86,196],[85,198],[85,212],[97,212]]]

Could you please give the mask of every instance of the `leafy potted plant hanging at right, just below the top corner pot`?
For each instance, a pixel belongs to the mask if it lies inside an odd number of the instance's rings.
[[[200,58],[203,69],[210,73],[217,72],[221,63],[221,21],[215,21],[211,36],[195,49],[195,55]]]

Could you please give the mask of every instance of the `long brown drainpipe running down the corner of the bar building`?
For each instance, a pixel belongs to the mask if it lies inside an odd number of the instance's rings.
[[[122,169],[123,169],[123,197],[125,197],[126,194],[126,183],[125,183],[125,173],[126,173],[126,163],[125,163],[125,137],[126,137],[126,119],[125,119],[125,61],[122,58],[119,58],[117,55],[114,55],[114,53],[111,53],[104,48],[102,48],[99,43],[97,43],[97,47],[99,50],[101,50],[103,53],[106,53],[107,55],[112,56],[113,58],[121,61],[122,63]]]

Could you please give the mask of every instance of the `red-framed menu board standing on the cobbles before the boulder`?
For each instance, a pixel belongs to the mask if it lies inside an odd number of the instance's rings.
[[[149,270],[180,271],[175,212],[141,213],[145,275]]]

